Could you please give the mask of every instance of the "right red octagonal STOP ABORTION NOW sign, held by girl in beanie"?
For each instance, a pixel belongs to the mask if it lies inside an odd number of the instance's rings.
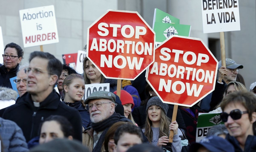
[[[191,107],[214,90],[218,61],[201,39],[172,36],[155,52],[146,79],[163,102]]]

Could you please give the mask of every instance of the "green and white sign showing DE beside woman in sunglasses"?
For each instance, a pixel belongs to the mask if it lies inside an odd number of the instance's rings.
[[[197,120],[197,134],[196,134],[196,142],[200,142],[206,134],[208,130],[212,128],[212,126],[218,124],[224,124],[220,118],[220,113],[199,113]]]

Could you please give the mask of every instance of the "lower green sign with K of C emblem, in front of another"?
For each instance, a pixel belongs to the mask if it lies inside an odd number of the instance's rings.
[[[183,24],[155,22],[153,30],[155,31],[155,44],[156,46],[158,46],[160,43],[162,43],[172,35],[190,36],[191,26]]]

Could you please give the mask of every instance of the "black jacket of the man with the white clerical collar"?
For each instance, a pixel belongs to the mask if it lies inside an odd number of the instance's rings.
[[[74,139],[82,141],[82,122],[79,112],[62,103],[60,95],[55,90],[40,102],[39,107],[34,106],[31,95],[26,92],[17,104],[5,109],[2,118],[16,122],[29,141],[40,135],[41,123],[51,115],[66,117],[75,130]]]

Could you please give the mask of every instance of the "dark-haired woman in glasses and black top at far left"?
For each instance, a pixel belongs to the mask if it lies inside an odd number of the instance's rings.
[[[23,54],[18,44],[9,43],[5,46],[4,54],[2,54],[4,65],[0,68],[0,86],[12,88],[10,78],[16,77]]]

